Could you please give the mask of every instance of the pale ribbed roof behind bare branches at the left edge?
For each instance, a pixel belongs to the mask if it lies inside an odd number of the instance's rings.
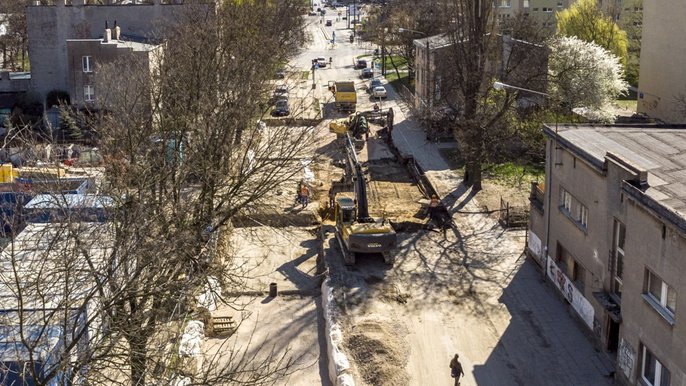
[[[100,269],[111,253],[111,232],[105,223],[27,224],[0,253],[0,313],[19,309],[19,288],[23,310],[81,306],[105,274]]]

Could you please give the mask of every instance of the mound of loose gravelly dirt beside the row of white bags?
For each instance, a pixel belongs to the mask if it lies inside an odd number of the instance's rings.
[[[397,326],[366,320],[345,334],[345,349],[368,385],[407,385],[407,343]]]

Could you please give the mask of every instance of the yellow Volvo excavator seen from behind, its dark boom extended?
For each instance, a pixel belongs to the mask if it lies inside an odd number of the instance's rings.
[[[346,173],[344,181],[332,184],[334,192],[353,186],[355,198],[337,197],[335,202],[336,238],[343,251],[346,265],[355,264],[358,253],[381,253],[386,264],[393,264],[392,254],[397,244],[395,230],[384,219],[369,215],[367,202],[367,182],[362,165],[357,160],[355,146],[350,133],[345,138]]]

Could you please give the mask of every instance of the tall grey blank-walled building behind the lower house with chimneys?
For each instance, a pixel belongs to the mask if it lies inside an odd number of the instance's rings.
[[[73,63],[69,58],[68,41],[102,39],[105,24],[113,28],[116,21],[121,36],[145,42],[160,38],[161,27],[174,22],[189,7],[208,9],[208,5],[183,4],[182,0],[137,0],[124,4],[104,0],[95,3],[54,0],[53,5],[36,2],[27,7],[31,79],[43,98],[51,90],[72,90],[70,71]],[[82,92],[77,94],[74,96],[83,97]]]

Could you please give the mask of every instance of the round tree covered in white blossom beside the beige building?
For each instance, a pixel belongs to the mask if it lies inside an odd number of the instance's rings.
[[[548,93],[566,113],[583,111],[586,117],[611,122],[608,107],[629,85],[620,60],[601,46],[576,37],[550,41]]]

